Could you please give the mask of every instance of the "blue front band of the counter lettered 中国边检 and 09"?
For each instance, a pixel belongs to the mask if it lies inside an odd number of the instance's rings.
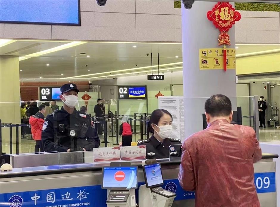
[[[262,180],[262,181],[261,181]],[[257,193],[276,192],[275,172],[255,173]],[[256,182],[258,182],[256,184]],[[144,185],[139,182],[138,186]],[[184,191],[177,179],[164,180],[164,189],[177,194],[175,200],[194,199],[195,192]],[[138,196],[138,190],[136,190]],[[0,206],[10,207],[106,207],[107,190],[101,186],[83,186],[0,194]]]

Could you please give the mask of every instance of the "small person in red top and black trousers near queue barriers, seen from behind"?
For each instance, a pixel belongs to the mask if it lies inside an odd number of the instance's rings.
[[[133,129],[130,124],[127,123],[127,117],[123,116],[121,120],[122,124],[119,127],[119,135],[122,135],[122,147],[131,146]]]

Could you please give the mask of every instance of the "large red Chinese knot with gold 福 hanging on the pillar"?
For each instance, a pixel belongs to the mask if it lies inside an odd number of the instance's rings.
[[[228,30],[241,19],[241,14],[228,2],[218,2],[211,11],[207,12],[207,18],[213,21],[215,27],[220,30],[218,45],[224,45],[224,70],[226,71],[226,45],[231,45]]]

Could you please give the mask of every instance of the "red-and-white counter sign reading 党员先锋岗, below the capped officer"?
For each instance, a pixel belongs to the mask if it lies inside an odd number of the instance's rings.
[[[120,147],[99,147],[93,149],[94,162],[120,161]]]

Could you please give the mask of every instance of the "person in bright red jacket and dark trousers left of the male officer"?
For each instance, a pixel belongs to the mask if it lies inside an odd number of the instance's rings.
[[[35,153],[44,152],[43,145],[42,145],[42,127],[43,123],[45,121],[45,112],[46,108],[45,105],[39,106],[39,112],[37,112],[35,115],[30,116],[29,118],[29,124],[31,125],[31,133],[32,137],[35,141]]]

